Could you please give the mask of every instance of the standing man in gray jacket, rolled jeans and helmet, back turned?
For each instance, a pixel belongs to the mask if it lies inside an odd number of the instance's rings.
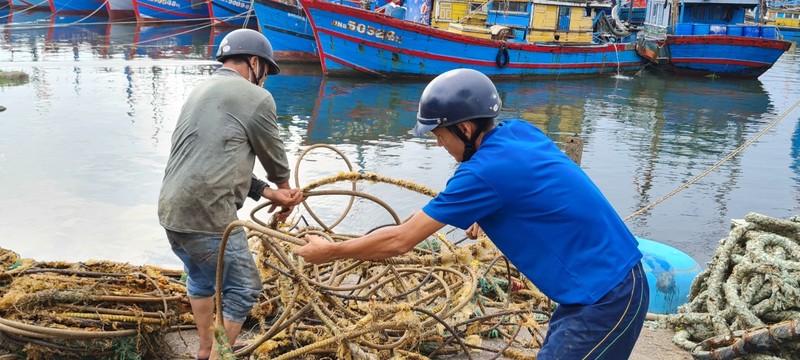
[[[265,197],[273,204],[270,211],[281,206],[279,220],[303,199],[299,189],[289,187],[275,100],[262,87],[268,74],[280,72],[271,44],[257,31],[234,30],[220,43],[216,58],[222,67],[189,94],[181,109],[158,201],[158,218],[187,274],[200,337],[198,359],[217,357],[211,332],[217,257],[222,234],[237,220],[245,197]],[[275,189],[252,174],[256,158]],[[242,228],[229,235],[221,288],[225,331],[233,345],[261,292]]]

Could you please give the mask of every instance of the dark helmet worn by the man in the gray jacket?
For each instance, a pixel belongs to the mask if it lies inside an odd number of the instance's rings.
[[[255,55],[269,62],[267,74],[275,75],[281,72],[275,63],[275,54],[272,44],[260,32],[252,29],[236,29],[225,35],[219,43],[217,61],[222,62],[231,55]]]

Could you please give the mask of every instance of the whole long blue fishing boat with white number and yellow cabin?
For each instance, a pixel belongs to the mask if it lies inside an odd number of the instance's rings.
[[[631,73],[643,65],[623,31],[595,31],[596,22],[608,20],[595,10],[587,16],[588,2],[548,1],[535,11],[529,1],[495,2],[486,27],[451,23],[448,30],[428,25],[429,7],[411,5],[399,19],[322,0],[300,3],[327,75],[430,77],[469,67],[495,78],[565,77]]]

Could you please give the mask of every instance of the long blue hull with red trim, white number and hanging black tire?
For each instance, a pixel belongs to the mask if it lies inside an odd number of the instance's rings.
[[[596,76],[642,68],[634,44],[479,39],[321,0],[301,0],[328,75],[430,77],[473,68],[491,77]]]

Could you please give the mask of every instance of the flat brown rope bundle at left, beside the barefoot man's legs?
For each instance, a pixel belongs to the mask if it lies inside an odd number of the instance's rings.
[[[139,359],[169,353],[163,333],[188,308],[161,269],[35,262],[0,249],[0,347],[28,359]]]

